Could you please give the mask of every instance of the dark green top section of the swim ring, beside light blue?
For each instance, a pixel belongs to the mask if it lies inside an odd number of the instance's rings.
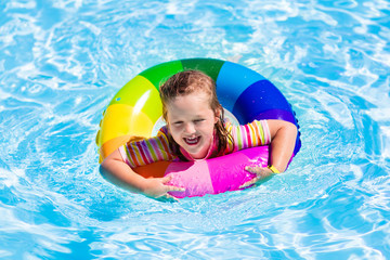
[[[196,69],[207,74],[211,77],[214,82],[217,82],[217,78],[219,72],[221,70],[224,61],[216,60],[216,58],[186,58],[181,61],[183,64],[184,70]]]

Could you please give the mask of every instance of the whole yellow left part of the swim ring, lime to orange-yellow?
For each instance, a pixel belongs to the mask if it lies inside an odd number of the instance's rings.
[[[145,77],[135,76],[115,94],[104,112],[96,134],[100,161],[131,136],[150,138],[161,113],[156,87]]]

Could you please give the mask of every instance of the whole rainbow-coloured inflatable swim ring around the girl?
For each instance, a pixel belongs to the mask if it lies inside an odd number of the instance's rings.
[[[109,102],[96,134],[100,162],[132,136],[150,138],[157,132],[162,110],[158,88],[172,75],[188,69],[202,70],[216,81],[220,103],[238,123],[245,125],[255,119],[281,119],[298,127],[287,100],[260,74],[235,63],[213,58],[172,61],[136,75]],[[291,158],[301,145],[299,134],[298,131]],[[145,178],[171,174],[170,184],[186,188],[171,195],[192,197],[238,190],[255,177],[245,171],[244,166],[265,167],[268,159],[269,147],[259,146],[203,161],[158,161],[133,170]]]

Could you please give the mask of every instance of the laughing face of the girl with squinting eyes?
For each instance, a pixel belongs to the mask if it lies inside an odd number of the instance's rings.
[[[212,143],[218,117],[203,91],[177,96],[167,105],[168,128],[173,140],[194,159],[205,158]]]

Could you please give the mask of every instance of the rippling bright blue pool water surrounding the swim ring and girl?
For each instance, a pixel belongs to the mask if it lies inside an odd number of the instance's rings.
[[[0,259],[389,259],[390,1],[0,1]],[[141,70],[230,60],[292,104],[302,148],[242,192],[162,204],[99,173]]]

